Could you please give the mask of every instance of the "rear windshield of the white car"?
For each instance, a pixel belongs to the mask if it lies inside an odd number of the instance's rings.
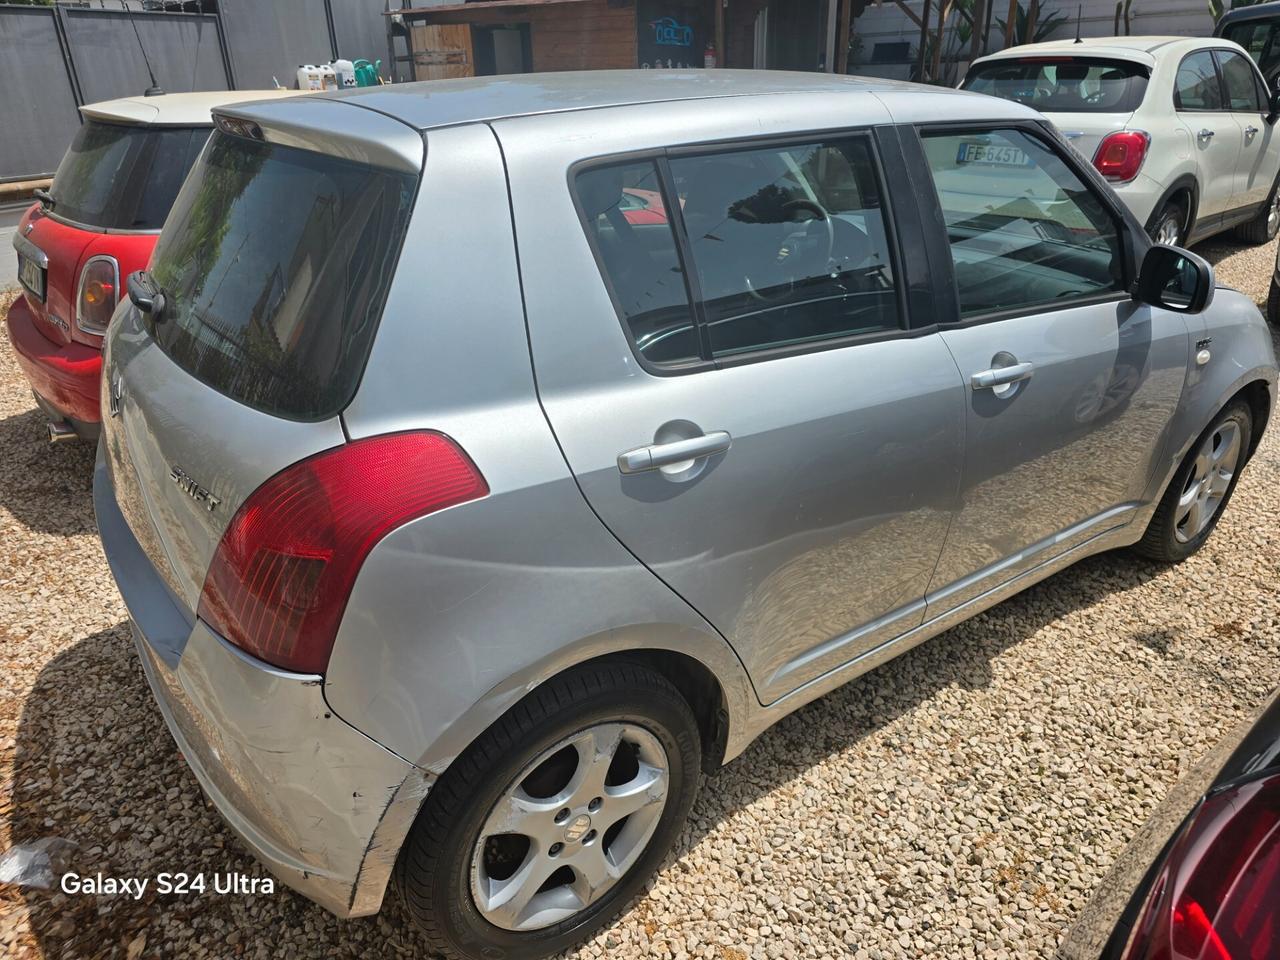
[[[964,88],[1042,113],[1130,113],[1147,92],[1147,70],[1125,60],[1027,58],[978,64]]]

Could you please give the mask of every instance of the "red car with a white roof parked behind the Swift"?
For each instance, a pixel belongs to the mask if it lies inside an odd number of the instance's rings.
[[[82,106],[83,124],[13,244],[23,296],[9,339],[50,440],[96,438],[102,334],[122,284],[151,257],[160,227],[223,104],[297,91],[125,97]]]

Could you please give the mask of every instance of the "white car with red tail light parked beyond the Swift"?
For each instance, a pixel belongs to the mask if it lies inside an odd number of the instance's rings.
[[[1027,44],[975,60],[961,86],[1044,114],[1158,243],[1280,228],[1280,95],[1229,40]]]

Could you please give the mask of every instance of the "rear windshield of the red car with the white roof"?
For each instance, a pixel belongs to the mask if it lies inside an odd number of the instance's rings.
[[[54,214],[116,230],[159,230],[207,127],[84,123],[54,175]]]

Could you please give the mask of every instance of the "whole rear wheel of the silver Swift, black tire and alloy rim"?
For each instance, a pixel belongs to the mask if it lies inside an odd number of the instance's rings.
[[[410,918],[458,959],[532,960],[585,940],[675,844],[700,749],[689,704],[645,667],[543,684],[428,795],[397,865]]]

